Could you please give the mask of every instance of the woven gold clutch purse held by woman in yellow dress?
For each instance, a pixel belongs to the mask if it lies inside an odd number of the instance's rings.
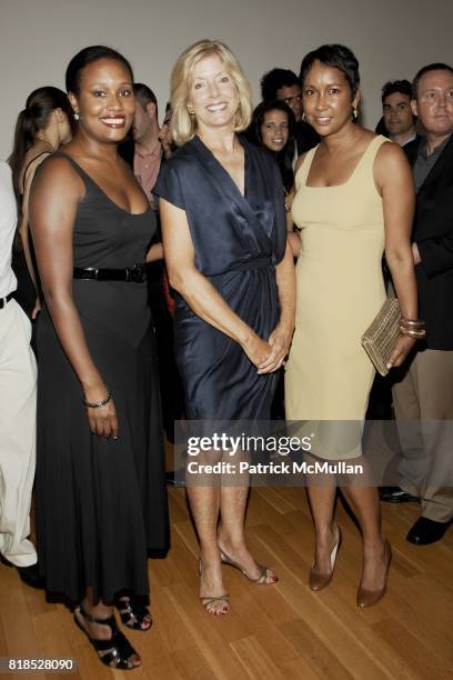
[[[400,321],[399,301],[396,298],[387,298],[362,336],[362,347],[381,376],[389,373],[386,364],[401,334]]]

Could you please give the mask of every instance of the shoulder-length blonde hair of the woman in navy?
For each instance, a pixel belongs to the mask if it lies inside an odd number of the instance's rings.
[[[219,40],[199,40],[180,54],[170,79],[170,101],[173,111],[170,130],[172,139],[178,147],[185,144],[197,132],[197,119],[189,116],[188,111],[189,90],[192,86],[194,66],[201,59],[211,54],[217,54],[221,59],[238,89],[239,109],[234,132],[245,130],[250,123],[252,117],[252,89],[238,59],[230,48]]]

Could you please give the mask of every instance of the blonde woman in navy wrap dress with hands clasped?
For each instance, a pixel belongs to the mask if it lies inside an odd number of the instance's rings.
[[[279,168],[236,136],[250,122],[251,93],[226,46],[190,47],[177,61],[171,90],[181,148],[155,193],[178,291],[175,353],[187,411],[192,420],[265,420],[294,316]],[[188,492],[200,539],[201,602],[210,613],[226,613],[222,561],[258,583],[278,579],[245,542],[248,487],[191,486]]]

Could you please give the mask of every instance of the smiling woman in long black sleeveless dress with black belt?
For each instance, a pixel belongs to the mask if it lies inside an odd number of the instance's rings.
[[[76,137],[34,179],[30,221],[46,306],[38,323],[37,532],[49,592],[102,662],[140,658],[119,632],[148,630],[147,550],[168,548],[153,330],[143,266],[155,219],[117,153],[134,113],[132,71],[79,52],[67,89]]]

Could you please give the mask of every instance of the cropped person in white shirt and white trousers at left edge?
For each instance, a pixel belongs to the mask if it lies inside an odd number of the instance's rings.
[[[0,559],[41,588],[30,534],[37,437],[37,364],[31,323],[14,300],[11,269],[17,226],[11,169],[0,161]]]

